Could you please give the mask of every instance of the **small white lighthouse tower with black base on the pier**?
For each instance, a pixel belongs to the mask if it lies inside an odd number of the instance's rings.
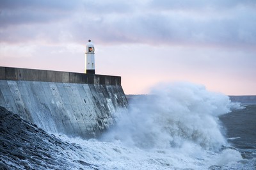
[[[95,73],[95,63],[94,63],[94,45],[91,40],[86,43],[85,51],[85,73]]]

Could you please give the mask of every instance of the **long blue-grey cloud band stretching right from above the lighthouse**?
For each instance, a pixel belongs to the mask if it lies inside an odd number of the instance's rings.
[[[253,37],[256,36],[256,31],[253,23],[256,23],[256,19],[248,17],[239,17],[241,21],[236,18],[200,21],[153,14],[125,20],[122,18],[115,21],[105,19],[101,25],[95,23],[89,27],[92,27],[95,34],[99,33],[102,38],[107,37],[108,41],[255,44]]]

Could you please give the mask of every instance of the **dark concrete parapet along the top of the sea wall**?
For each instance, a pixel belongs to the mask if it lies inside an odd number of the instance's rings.
[[[88,73],[58,72],[0,66],[0,80],[46,81],[121,86],[121,77]]]

